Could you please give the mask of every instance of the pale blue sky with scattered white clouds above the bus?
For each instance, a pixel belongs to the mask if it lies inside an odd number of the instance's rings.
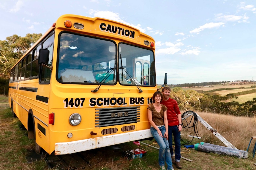
[[[63,14],[103,17],[156,42],[157,84],[256,80],[255,0],[1,0],[0,40],[45,33]]]

